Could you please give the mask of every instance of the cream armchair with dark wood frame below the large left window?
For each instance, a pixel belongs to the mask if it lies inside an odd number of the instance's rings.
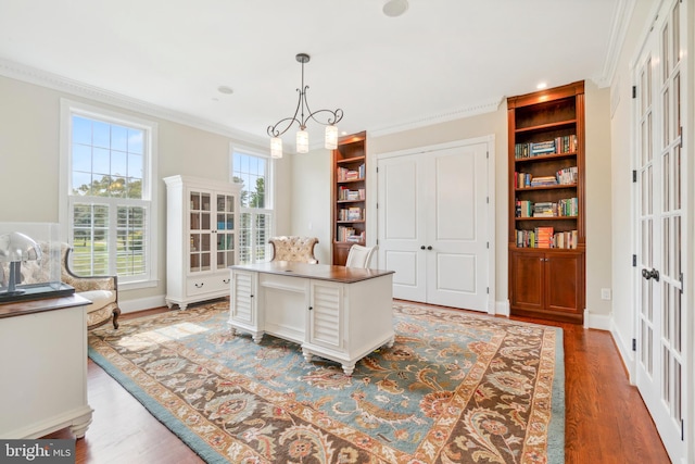
[[[47,242],[40,243],[42,259],[22,263],[22,283],[37,284],[50,281],[51,252]],[[86,306],[87,328],[102,326],[110,321],[114,328],[118,328],[118,278],[117,276],[83,277],[70,268],[70,253],[73,249],[67,243],[61,243],[61,281],[75,288],[75,294],[91,301]]]

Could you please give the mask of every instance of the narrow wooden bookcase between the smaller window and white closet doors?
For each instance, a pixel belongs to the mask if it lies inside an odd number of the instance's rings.
[[[332,263],[345,265],[350,247],[367,234],[367,133],[343,136],[333,150]]]

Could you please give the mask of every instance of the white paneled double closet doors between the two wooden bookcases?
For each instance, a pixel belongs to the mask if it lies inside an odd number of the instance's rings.
[[[379,267],[393,297],[489,310],[493,141],[462,141],[378,156]]]

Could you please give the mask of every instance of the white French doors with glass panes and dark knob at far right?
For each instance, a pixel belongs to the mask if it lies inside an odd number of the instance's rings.
[[[636,386],[672,462],[685,461],[687,369],[683,272],[688,205],[685,3],[662,3],[636,62]]]

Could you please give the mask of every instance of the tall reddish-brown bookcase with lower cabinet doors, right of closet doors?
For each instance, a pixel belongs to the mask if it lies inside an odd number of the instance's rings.
[[[584,83],[510,97],[507,121],[511,314],[581,324]]]

